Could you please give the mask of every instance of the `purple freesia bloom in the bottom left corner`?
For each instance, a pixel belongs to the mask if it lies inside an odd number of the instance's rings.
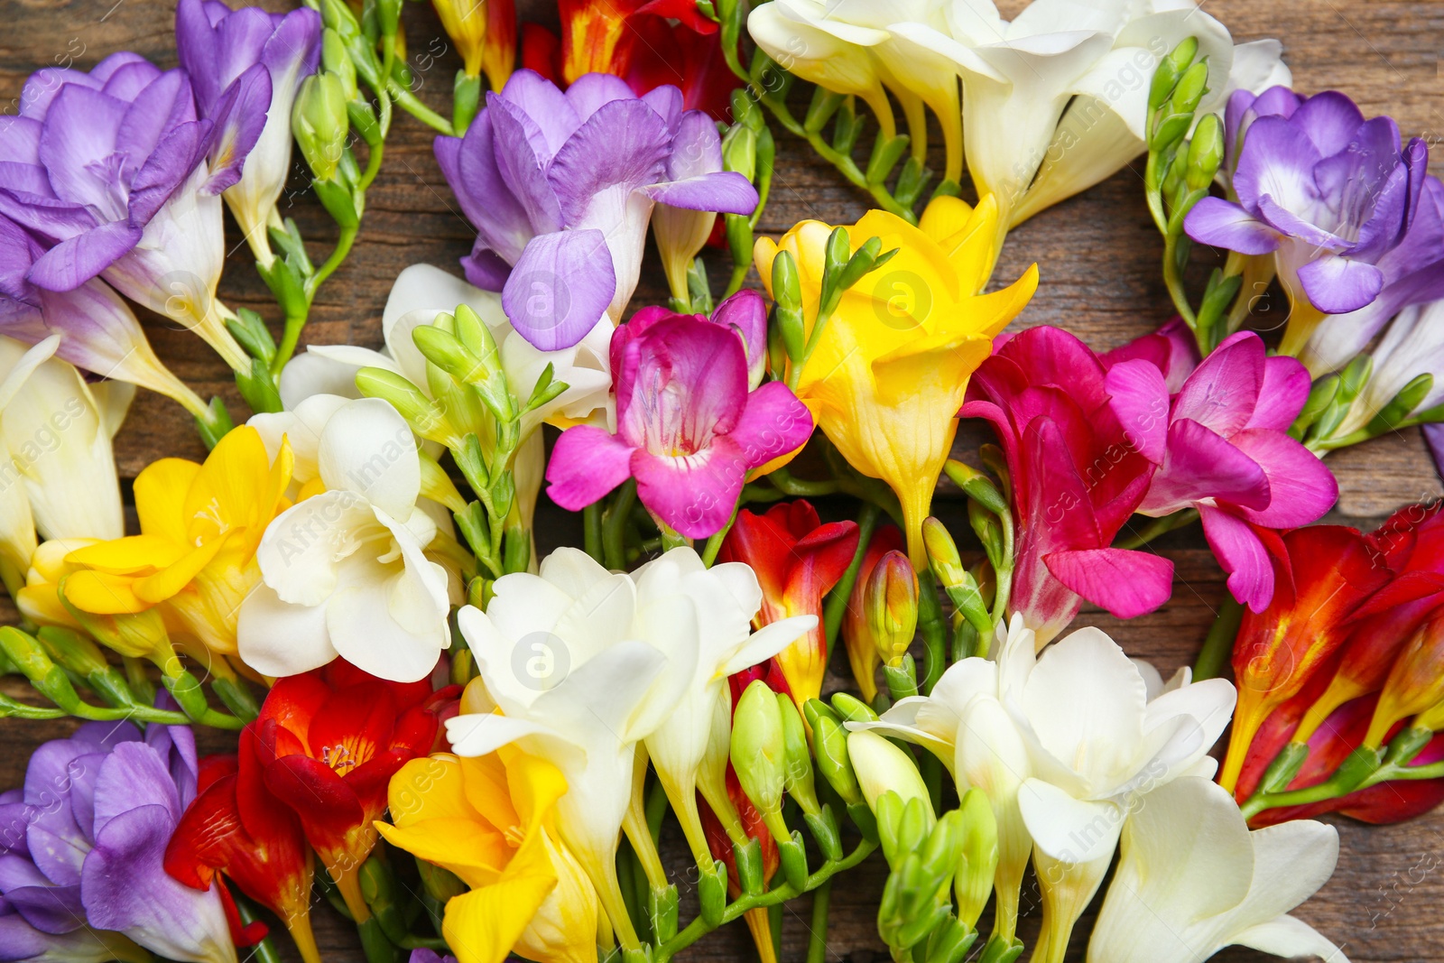
[[[217,891],[166,875],[166,843],[196,791],[186,726],[92,722],[30,757],[25,790],[0,803],[0,960],[91,957],[117,934],[172,960],[235,963]],[[65,956],[75,950],[79,956]],[[120,959],[130,959],[123,954]]]

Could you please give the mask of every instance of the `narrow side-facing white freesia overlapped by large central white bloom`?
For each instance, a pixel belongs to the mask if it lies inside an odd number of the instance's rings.
[[[692,599],[697,611],[696,668],[690,680],[682,680],[683,696],[671,716],[645,738],[645,744],[693,855],[710,865],[696,788],[712,729],[718,725],[718,700],[728,699],[731,705],[726,679],[765,663],[810,632],[817,618],[784,618],[752,632],[752,616],[762,608],[757,573],[741,562],[708,569],[692,549],[667,552],[634,572],[632,579],[640,609],[680,595]],[[721,722],[725,725],[729,718],[731,712]]]

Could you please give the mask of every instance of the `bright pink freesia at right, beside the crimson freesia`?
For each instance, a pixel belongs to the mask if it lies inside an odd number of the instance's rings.
[[[1161,517],[1197,508],[1233,598],[1264,611],[1274,566],[1253,526],[1307,526],[1339,497],[1333,472],[1288,436],[1308,400],[1308,371],[1297,358],[1266,357],[1259,336],[1242,331],[1171,397],[1162,372],[1145,360],[1113,365],[1106,384],[1134,445],[1158,466],[1138,511]],[[1168,417],[1160,419],[1164,406]]]

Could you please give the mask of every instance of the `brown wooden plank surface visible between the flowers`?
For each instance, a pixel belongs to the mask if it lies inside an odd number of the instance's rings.
[[[280,10],[284,0],[267,0]],[[544,4],[536,4],[539,9]],[[1005,16],[1021,6],[1002,4]],[[1236,40],[1276,36],[1285,42],[1287,61],[1295,85],[1305,92],[1339,87],[1366,114],[1388,113],[1405,136],[1422,136],[1431,144],[1444,131],[1440,65],[1444,45],[1444,3],[1347,3],[1346,0],[1210,0],[1206,10],[1223,20]],[[162,66],[176,64],[172,36],[172,0],[0,0],[0,101],[14,111],[25,78],[48,65],[90,68],[107,53],[137,51]],[[524,17],[529,14],[523,14]],[[544,20],[546,13],[531,19]],[[554,19],[554,12],[552,13]],[[404,26],[413,66],[420,75],[420,97],[449,113],[449,91],[458,66],[455,53],[429,7],[409,3]],[[422,69],[422,56],[432,55]],[[456,258],[469,250],[474,231],[458,206],[432,157],[432,134],[404,114],[387,146],[386,163],[368,196],[360,243],[347,264],[323,287],[305,339],[318,344],[380,345],[381,306],[396,274],[417,261],[459,273]],[[1444,173],[1444,153],[1435,154],[1432,170]],[[934,169],[939,165],[934,165]],[[1038,261],[1043,280],[1019,325],[1053,323],[1083,336],[1097,349],[1112,348],[1147,332],[1167,319],[1170,302],[1160,282],[1160,243],[1148,218],[1139,178],[1141,165],[1123,170],[1106,183],[1074,198],[1008,238],[996,279],[1012,280],[1030,263]],[[313,257],[335,237],[334,227],[296,178],[283,198],[283,214],[295,217],[313,244]],[[773,201],[762,231],[780,234],[803,218],[833,224],[856,221],[866,209],[865,196],[848,186],[829,166],[807,150],[780,137]],[[277,312],[256,276],[248,253],[228,224],[235,245],[227,261],[221,297],[231,308],[254,308],[274,321]],[[1212,254],[1197,256],[1207,261]],[[721,264],[721,260],[718,260]],[[721,269],[715,271],[721,274]],[[754,277],[755,282],[755,277]],[[635,305],[664,303],[666,289],[654,261],[637,292]],[[1284,305],[1275,292],[1262,308],[1262,321],[1282,321]],[[228,371],[186,331],[163,319],[146,318],[157,354],[202,396],[219,393],[237,416],[244,414]],[[959,435],[959,450],[975,449],[983,432],[969,427]],[[144,465],[165,455],[204,456],[189,420],[179,407],[159,396],[142,394],[116,455],[123,479],[134,478]],[[1341,495],[1330,518],[1360,527],[1376,524],[1393,508],[1441,494],[1440,481],[1417,430],[1375,440],[1330,456]],[[959,520],[956,505],[946,498],[940,514]],[[544,501],[544,500],[543,500]],[[550,505],[540,515],[543,552],[560,543],[579,543],[573,518]],[[1077,625],[1096,624],[1112,632],[1128,651],[1152,660],[1167,676],[1191,661],[1210,624],[1213,606],[1223,595],[1223,580],[1197,531],[1175,533],[1157,549],[1177,565],[1173,601],[1158,612],[1132,622],[1118,622],[1106,614],[1084,611]],[[13,619],[13,609],[0,618]],[[23,694],[16,679],[3,681],[9,694]],[[68,731],[66,723],[0,722],[0,788],[19,785],[30,751],[45,739]],[[225,748],[222,738],[206,736],[206,748]],[[1344,947],[1356,962],[1444,960],[1444,813],[1393,827],[1366,827],[1339,822],[1343,853],[1339,871],[1298,915]],[[673,846],[671,862],[682,878],[684,850]],[[882,868],[874,859],[845,876],[833,894],[829,960],[871,963],[887,959],[874,933],[874,907],[881,889]],[[1031,912],[1024,937],[1031,943],[1037,928],[1035,891],[1025,895]],[[689,910],[684,908],[684,917]],[[807,901],[787,908],[784,959],[803,959],[807,936]],[[319,907],[316,927],[325,957],[335,963],[361,960],[354,933],[329,908]],[[1083,924],[1086,931],[1087,921]],[[282,938],[283,951],[289,946]],[[1082,960],[1082,938],[1069,957]],[[745,930],[719,933],[687,959],[748,959]],[[1229,950],[1220,960],[1240,963],[1266,959],[1252,951]]]

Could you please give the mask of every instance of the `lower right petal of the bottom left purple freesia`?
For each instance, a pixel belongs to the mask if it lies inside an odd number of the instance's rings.
[[[163,868],[175,826],[165,806],[142,806],[111,819],[85,859],[85,914],[92,927],[120,930],[165,957],[215,959],[230,943],[218,891],[192,889]]]

